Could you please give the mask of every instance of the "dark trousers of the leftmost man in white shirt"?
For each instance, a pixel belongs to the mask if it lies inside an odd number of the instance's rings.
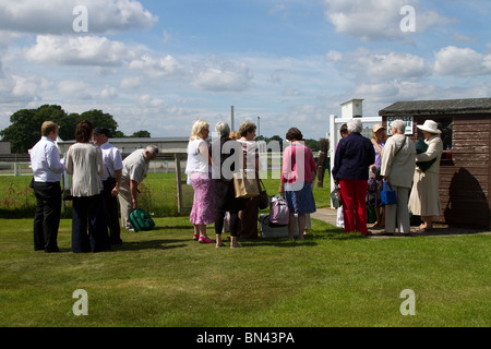
[[[61,215],[60,182],[34,182],[34,250],[58,251],[58,228]]]

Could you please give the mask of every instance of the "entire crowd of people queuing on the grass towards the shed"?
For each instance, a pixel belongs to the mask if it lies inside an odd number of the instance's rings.
[[[332,174],[339,185],[346,232],[371,234],[368,205],[375,209],[373,227],[384,228],[385,232],[395,233],[396,229],[399,233],[409,232],[409,213],[421,216],[422,224],[417,231],[432,229],[432,218],[441,214],[439,172],[443,145],[436,122],[427,120],[417,127],[424,136],[418,149],[405,135],[406,124],[402,120],[392,122],[391,137],[385,128],[374,125],[372,140],[361,135],[358,118],[342,127]],[[57,237],[60,180],[64,171],[72,176],[72,252],[107,251],[111,245],[121,244],[120,227],[133,230],[129,217],[139,207],[139,184],[146,177],[149,161],[157,157],[158,147],[148,145],[136,149],[123,160],[119,149],[108,142],[109,130],[83,120],[75,130],[75,144],[61,159],[56,145],[58,131],[55,122],[44,122],[41,139],[29,152],[34,172],[31,186],[36,197],[34,249],[60,251]],[[240,124],[238,132],[231,132],[226,122],[218,122],[215,125],[218,137],[208,144],[209,124],[197,120],[192,125],[185,173],[194,191],[190,214],[193,240],[225,246],[221,233],[226,222],[232,249],[241,246],[239,239],[258,238],[260,198],[237,197],[233,184],[233,173],[243,171],[255,179],[258,191],[261,190],[255,131],[255,124],[250,121]],[[288,238],[294,239],[298,226],[297,239],[302,240],[307,217],[315,212],[312,183],[316,165],[299,129],[290,128],[286,139],[289,146],[284,149],[278,194],[288,205]],[[383,183],[391,183],[396,204],[382,204]],[[215,240],[206,233],[211,224],[215,225]]]

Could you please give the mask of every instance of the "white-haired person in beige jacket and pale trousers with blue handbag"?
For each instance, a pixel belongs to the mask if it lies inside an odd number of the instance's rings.
[[[407,202],[415,172],[416,147],[406,137],[406,123],[395,120],[391,125],[392,136],[385,142],[382,152],[381,176],[384,184],[390,183],[397,200],[394,205],[385,205],[385,232],[394,234],[396,228],[399,233],[409,233],[409,210]],[[388,185],[387,185],[388,186]]]

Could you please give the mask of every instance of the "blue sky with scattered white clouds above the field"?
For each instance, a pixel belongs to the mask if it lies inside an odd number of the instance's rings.
[[[411,12],[411,9],[414,12]],[[0,129],[101,109],[125,134],[199,118],[328,132],[340,104],[491,97],[489,0],[2,0]]]

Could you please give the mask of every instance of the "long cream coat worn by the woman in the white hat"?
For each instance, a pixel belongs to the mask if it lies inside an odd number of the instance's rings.
[[[428,141],[426,153],[418,154],[418,161],[430,161],[436,158],[436,161],[426,171],[416,168],[414,184],[409,196],[409,210],[417,216],[440,216],[440,158],[443,152],[443,142],[440,135],[434,135]]]

